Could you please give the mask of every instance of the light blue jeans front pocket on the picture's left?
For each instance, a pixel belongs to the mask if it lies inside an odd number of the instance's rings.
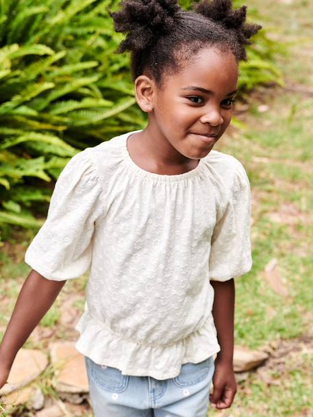
[[[101,388],[110,392],[123,392],[126,390],[129,375],[123,375],[121,370],[111,366],[99,365],[90,358],[86,360],[92,380]]]

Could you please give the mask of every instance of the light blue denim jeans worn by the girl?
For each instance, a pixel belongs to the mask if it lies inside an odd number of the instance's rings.
[[[85,357],[95,417],[205,417],[214,374],[213,356],[184,364],[169,379],[122,375]]]

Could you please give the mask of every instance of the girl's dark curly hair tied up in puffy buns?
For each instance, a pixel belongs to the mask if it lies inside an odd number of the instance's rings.
[[[177,0],[123,0],[110,12],[117,32],[126,34],[117,52],[132,54],[132,77],[147,73],[162,84],[164,73],[184,66],[201,48],[231,51],[247,60],[249,38],[262,27],[246,23],[247,6],[232,9],[231,0],[201,0],[182,10]]]

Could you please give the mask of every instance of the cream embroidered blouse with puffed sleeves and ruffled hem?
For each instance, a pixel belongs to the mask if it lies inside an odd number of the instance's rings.
[[[167,379],[221,350],[210,279],[251,269],[249,180],[218,151],[188,173],[150,173],[128,153],[132,133],[68,162],[25,262],[55,281],[90,268],[77,350]]]

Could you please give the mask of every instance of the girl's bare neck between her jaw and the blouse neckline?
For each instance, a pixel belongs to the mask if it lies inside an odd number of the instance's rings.
[[[199,164],[199,160],[181,155],[153,123],[129,136],[127,149],[136,165],[159,175],[188,173]]]

